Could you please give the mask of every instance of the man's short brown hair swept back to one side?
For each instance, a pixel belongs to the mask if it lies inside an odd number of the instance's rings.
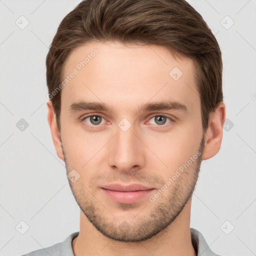
[[[223,100],[222,60],[216,38],[185,0],[83,0],[61,21],[46,57],[49,95],[61,83],[72,49],[93,41],[156,44],[190,57],[200,96],[203,130]],[[51,102],[60,129],[60,95]]]

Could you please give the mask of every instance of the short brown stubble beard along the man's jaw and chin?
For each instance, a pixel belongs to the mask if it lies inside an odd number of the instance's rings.
[[[92,196],[88,188],[80,182],[72,183],[68,179],[72,194],[87,219],[103,235],[117,241],[126,242],[139,242],[149,239],[160,231],[164,232],[164,229],[175,220],[192,196],[200,170],[204,141],[203,136],[198,149],[200,155],[197,159],[177,177],[159,198],[154,202],[148,200],[145,203],[146,206],[149,205],[150,207],[147,216],[141,210],[143,208],[143,205],[141,205],[138,207],[138,214],[133,219],[125,219],[123,216],[116,218],[113,214],[109,214],[110,211],[105,208],[105,206],[107,207],[106,203],[102,202],[103,206]],[[72,167],[68,164],[68,157],[63,146],[62,150],[68,173]],[[165,193],[168,193],[168,196]],[[147,208],[146,206],[145,208]],[[134,204],[118,203],[118,208],[122,209],[123,212],[132,207],[134,207]],[[140,210],[141,212],[139,212]],[[107,218],[106,215],[110,215],[110,218]]]

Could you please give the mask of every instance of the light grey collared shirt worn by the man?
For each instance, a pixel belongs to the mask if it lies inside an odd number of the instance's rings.
[[[191,240],[197,256],[219,256],[209,248],[202,234],[194,228],[190,228]],[[63,242],[56,243],[46,248],[31,251],[22,256],[74,256],[72,240],[79,234],[74,232],[66,237]]]

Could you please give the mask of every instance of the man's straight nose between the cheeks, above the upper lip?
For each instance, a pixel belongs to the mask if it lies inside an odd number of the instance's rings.
[[[116,135],[109,144],[108,164],[119,171],[131,171],[145,164],[145,146],[133,125],[123,131],[117,127]]]

